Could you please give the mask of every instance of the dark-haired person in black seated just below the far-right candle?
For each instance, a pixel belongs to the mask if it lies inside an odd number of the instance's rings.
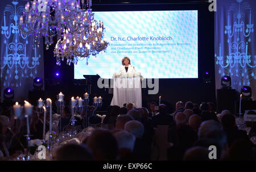
[[[246,131],[238,129],[236,125],[236,119],[232,114],[226,114],[222,116],[221,123],[223,130],[228,138],[228,146],[231,146],[233,142],[241,139],[248,139]]]

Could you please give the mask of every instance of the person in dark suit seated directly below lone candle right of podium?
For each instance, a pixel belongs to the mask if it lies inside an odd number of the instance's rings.
[[[152,117],[152,123],[156,125],[170,125],[174,122],[174,118],[166,112],[166,105],[160,104],[159,114]]]

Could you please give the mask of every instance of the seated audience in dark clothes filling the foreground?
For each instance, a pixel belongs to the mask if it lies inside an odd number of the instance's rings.
[[[217,148],[217,160],[256,160],[256,146],[250,140],[256,136],[255,123],[246,123],[251,127],[247,135],[238,129],[236,116],[229,111],[216,115],[210,102],[198,106],[180,101],[172,114],[165,104],[156,107],[155,102],[149,111],[133,103],[110,106],[103,120],[108,129],[96,128],[81,144],[60,146],[54,160],[210,160],[211,145]],[[64,109],[58,128],[68,125],[70,116]],[[89,126],[101,124],[93,106],[88,116]],[[42,139],[42,118],[33,115],[32,139]],[[76,125],[83,125],[83,118],[77,118]],[[16,150],[26,147],[26,128],[19,126],[10,114],[0,116],[0,158],[16,156]]]

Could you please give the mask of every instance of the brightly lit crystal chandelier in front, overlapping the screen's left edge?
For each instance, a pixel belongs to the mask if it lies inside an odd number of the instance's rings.
[[[61,61],[67,59],[67,64],[77,64],[79,59],[86,58],[86,65],[88,65],[88,58],[90,55],[96,56],[99,52],[105,51],[108,44],[104,40],[104,24],[94,20],[92,9],[82,11],[81,15],[76,16],[73,20],[73,26],[77,29],[72,32],[70,28],[64,30],[61,39],[57,41],[54,49],[56,57],[56,64],[60,65]],[[80,21],[83,24],[80,24]]]

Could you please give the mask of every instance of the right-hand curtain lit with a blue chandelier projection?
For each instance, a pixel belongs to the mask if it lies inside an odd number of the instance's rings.
[[[222,75],[229,75],[232,88],[250,86],[256,100],[255,0],[218,0],[215,15],[216,89]]]

